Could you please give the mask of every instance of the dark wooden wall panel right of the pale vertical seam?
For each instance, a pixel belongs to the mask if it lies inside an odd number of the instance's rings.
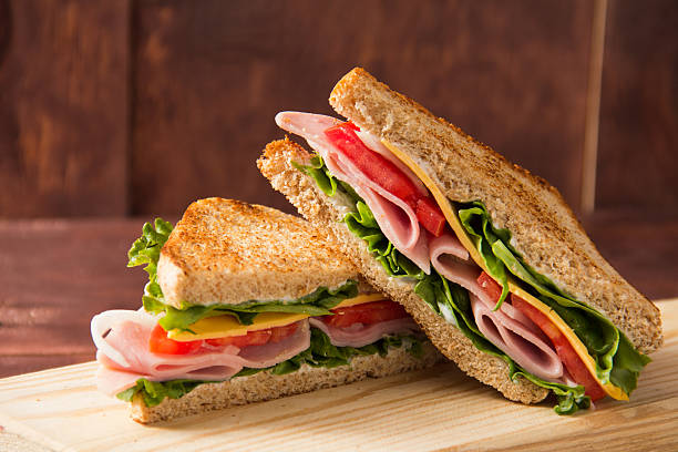
[[[678,2],[610,0],[596,207],[678,212]]]

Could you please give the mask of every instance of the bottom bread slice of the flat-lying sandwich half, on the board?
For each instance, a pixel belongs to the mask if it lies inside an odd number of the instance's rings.
[[[291,373],[275,376],[266,370],[254,376],[238,377],[220,383],[205,383],[179,399],[165,399],[156,407],[146,407],[141,396],[131,403],[131,415],[136,422],[168,421],[206,411],[220,410],[286,396],[311,392],[352,383],[367,378],[379,378],[433,366],[442,356],[431,345],[422,343],[423,355],[415,358],[405,349],[389,349],[379,355],[355,357],[349,366],[314,368],[302,364]]]

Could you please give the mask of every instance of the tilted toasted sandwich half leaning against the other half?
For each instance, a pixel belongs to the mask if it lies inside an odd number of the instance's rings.
[[[504,397],[556,412],[628,400],[659,310],[598,253],[556,188],[353,69],[329,102],[281,112],[306,140],[258,167],[433,345]]]

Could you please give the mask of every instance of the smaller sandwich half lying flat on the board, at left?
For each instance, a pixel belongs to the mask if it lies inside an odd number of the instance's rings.
[[[140,310],[92,319],[99,389],[150,423],[432,366],[442,356],[322,230],[246,203],[191,204],[129,253]]]

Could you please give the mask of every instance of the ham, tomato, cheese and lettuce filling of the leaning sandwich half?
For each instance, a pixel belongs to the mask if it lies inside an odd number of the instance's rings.
[[[627,400],[649,359],[608,319],[530,267],[495,228],[482,201],[448,199],[427,172],[358,125],[284,112],[278,125],[317,152],[292,163],[332,198],[343,222],[391,277],[414,291],[479,349],[558,397],[573,413],[590,400]]]

